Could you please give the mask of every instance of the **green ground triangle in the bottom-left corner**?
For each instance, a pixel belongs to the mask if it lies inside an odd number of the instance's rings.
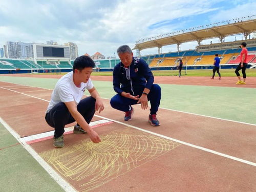
[[[0,191],[64,191],[0,123]],[[4,148],[3,148],[4,147]]]

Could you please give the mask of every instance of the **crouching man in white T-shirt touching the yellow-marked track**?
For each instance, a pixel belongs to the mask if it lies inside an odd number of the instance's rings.
[[[66,124],[77,122],[74,134],[88,134],[94,143],[100,142],[99,135],[89,125],[95,110],[104,110],[103,102],[91,81],[94,61],[88,56],[77,57],[73,71],[62,76],[52,92],[51,101],[46,111],[46,122],[54,127],[54,147],[63,147],[63,134]],[[81,99],[85,90],[90,97]]]

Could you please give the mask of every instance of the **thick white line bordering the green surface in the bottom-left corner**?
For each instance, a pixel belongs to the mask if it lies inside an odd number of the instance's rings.
[[[30,145],[24,145],[22,141],[19,139],[19,135],[1,117],[0,122],[65,191],[77,191],[68,182],[62,179],[61,176],[57,172],[55,172],[55,170],[49,164],[47,164],[47,162],[45,162],[45,160],[42,159]]]

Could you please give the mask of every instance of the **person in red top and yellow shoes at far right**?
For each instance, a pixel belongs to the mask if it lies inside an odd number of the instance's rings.
[[[236,75],[238,76],[238,82],[236,84],[245,84],[245,79],[246,79],[246,73],[245,73],[245,70],[246,70],[246,67],[247,67],[247,64],[248,64],[248,58],[247,58],[247,54],[248,54],[248,51],[247,49],[245,48],[246,47],[246,42],[242,42],[241,46],[242,48],[242,51],[240,53],[241,55],[241,62],[239,63],[236,71],[234,71],[236,73]],[[243,73],[243,80],[241,79],[241,76],[239,74],[239,71],[242,69],[242,73]]]

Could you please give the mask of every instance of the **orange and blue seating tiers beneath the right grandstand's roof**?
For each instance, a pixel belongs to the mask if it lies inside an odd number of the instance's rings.
[[[244,42],[244,40],[222,43],[222,46],[228,44],[233,49],[211,50],[211,47],[220,47],[221,43],[219,43],[198,46],[195,50],[148,55],[143,56],[142,58],[148,63],[151,68],[175,67],[178,64],[179,59],[182,59],[184,65],[186,65],[190,69],[209,69],[207,67],[212,66],[215,54],[219,54],[219,57],[221,58],[221,66],[223,68],[233,68],[234,64],[237,65],[241,60],[241,49],[239,48],[241,42]],[[246,42],[250,67],[255,68],[256,39],[248,39],[246,40]],[[201,51],[204,50],[204,47],[208,47],[209,49],[207,51]]]

